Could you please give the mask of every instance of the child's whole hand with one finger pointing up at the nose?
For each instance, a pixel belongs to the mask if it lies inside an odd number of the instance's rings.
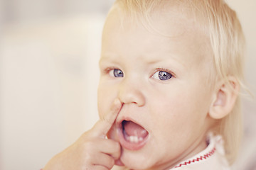
[[[119,159],[121,149],[119,142],[106,138],[122,103],[114,101],[110,113],[97,121],[94,127],[81,135],[70,147],[50,159],[43,170],[94,170],[112,169]]]

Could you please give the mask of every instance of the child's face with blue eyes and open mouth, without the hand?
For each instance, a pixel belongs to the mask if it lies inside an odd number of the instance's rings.
[[[102,38],[100,117],[119,98],[123,106],[109,137],[122,146],[121,162],[166,169],[206,147],[213,101],[208,39],[181,13],[153,18],[153,28],[171,38],[129,18],[121,24],[120,15],[110,13]]]

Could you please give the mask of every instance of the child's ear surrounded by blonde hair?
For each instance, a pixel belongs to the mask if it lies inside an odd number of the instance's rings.
[[[220,119],[228,115],[235,106],[239,89],[240,86],[235,77],[228,77],[228,81],[220,82],[213,94],[213,103],[209,111],[210,117]]]

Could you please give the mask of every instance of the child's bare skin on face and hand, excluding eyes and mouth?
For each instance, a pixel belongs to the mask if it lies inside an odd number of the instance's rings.
[[[206,133],[213,125],[209,109],[215,98],[208,81],[209,40],[191,15],[170,8],[171,13],[156,11],[151,22],[169,36],[152,33],[112,10],[102,36],[100,120],[50,159],[44,170],[112,169],[114,164],[171,169],[207,147]],[[121,22],[119,16],[125,19]],[[123,77],[114,77],[114,69],[122,71]],[[173,77],[160,80],[159,71]],[[149,132],[141,149],[120,145],[117,126],[125,118]]]

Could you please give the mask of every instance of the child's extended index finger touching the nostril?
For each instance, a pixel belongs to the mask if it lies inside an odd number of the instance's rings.
[[[115,99],[110,108],[110,113],[107,113],[103,118],[95,123],[93,130],[97,133],[98,136],[105,137],[107,132],[110,130],[114,121],[117,119],[120,109],[122,108],[122,103],[119,99]]]

